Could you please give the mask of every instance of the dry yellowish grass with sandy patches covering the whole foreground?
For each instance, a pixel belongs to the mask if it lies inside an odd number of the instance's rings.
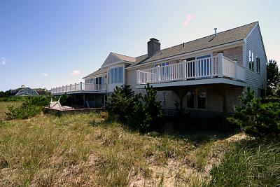
[[[2,119],[7,105],[0,102]],[[238,154],[235,145],[246,141],[244,134],[225,138],[216,132],[140,134],[106,117],[107,113],[40,114],[0,121],[0,186],[224,186],[221,178],[228,173],[218,171],[232,163],[230,154]],[[255,151],[258,146],[250,148]],[[273,155],[272,151],[269,156]],[[246,157],[240,160],[246,162]],[[271,171],[272,165],[262,165]],[[230,169],[238,173],[244,167]],[[279,169],[273,171],[279,177]],[[279,178],[272,184],[276,182]]]

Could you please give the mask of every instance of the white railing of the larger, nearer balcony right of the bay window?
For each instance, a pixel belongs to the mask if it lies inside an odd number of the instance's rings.
[[[137,70],[137,84],[186,81],[193,78],[228,77],[245,81],[245,68],[222,53],[193,61],[182,61],[163,67]]]

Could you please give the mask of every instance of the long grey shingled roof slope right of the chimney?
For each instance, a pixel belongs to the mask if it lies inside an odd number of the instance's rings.
[[[155,55],[153,55],[152,57],[148,57],[148,55],[142,55],[140,57],[137,57],[136,63],[130,65],[130,67],[133,67],[138,64],[144,64],[146,62],[164,59],[167,57],[172,57],[175,55],[190,53],[197,50],[211,48],[214,46],[221,46],[226,43],[241,41],[246,38],[246,36],[251,32],[251,30],[253,29],[253,27],[255,27],[256,24],[258,24],[258,22],[253,22],[248,25],[243,25],[241,27],[229,29],[224,32],[219,32],[217,36],[211,34],[201,39],[196,39],[194,41],[182,43],[178,46],[165,48],[160,50],[158,53],[155,53]]]

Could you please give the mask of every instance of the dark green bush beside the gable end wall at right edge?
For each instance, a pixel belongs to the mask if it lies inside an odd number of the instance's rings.
[[[280,103],[262,103],[255,99],[254,92],[248,88],[245,96],[240,97],[243,106],[235,106],[234,115],[228,120],[253,137],[262,137],[267,134],[280,133]]]

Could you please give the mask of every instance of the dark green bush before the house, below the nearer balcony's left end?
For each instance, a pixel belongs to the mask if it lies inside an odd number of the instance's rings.
[[[116,115],[121,123],[132,129],[146,132],[155,130],[160,124],[162,111],[156,101],[157,91],[150,85],[145,87],[146,95],[134,95],[129,85],[116,87],[109,99],[109,113]]]

